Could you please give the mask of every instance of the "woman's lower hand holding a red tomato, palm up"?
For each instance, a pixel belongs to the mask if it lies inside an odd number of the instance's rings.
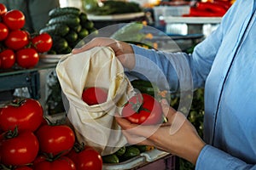
[[[159,150],[183,157],[195,164],[205,143],[199,137],[195,127],[182,113],[170,107],[166,99],[161,101],[161,106],[168,119],[168,122],[162,125],[142,126],[133,124],[120,116],[115,118],[130,144],[154,145]]]

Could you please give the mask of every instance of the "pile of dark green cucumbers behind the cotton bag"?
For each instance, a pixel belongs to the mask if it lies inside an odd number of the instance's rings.
[[[69,54],[84,37],[96,32],[96,28],[79,8],[63,7],[49,11],[49,21],[42,32],[49,33],[53,39],[48,54]]]

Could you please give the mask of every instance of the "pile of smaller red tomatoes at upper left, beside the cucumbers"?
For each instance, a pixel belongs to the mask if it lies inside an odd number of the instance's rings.
[[[8,11],[3,3],[0,18],[0,69],[10,69],[15,64],[25,69],[38,65],[39,54],[52,47],[49,34],[32,35],[26,31],[25,15],[18,9]]]

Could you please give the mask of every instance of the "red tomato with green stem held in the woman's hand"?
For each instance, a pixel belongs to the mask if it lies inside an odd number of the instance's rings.
[[[148,94],[136,94],[128,100],[122,116],[137,124],[152,125],[163,122],[160,103]]]

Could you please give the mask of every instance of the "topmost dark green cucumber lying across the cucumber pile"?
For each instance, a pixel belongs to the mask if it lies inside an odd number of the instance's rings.
[[[66,15],[66,14],[80,14],[80,9],[75,7],[64,7],[64,8],[53,8],[49,11],[49,18],[54,18],[56,16]]]

